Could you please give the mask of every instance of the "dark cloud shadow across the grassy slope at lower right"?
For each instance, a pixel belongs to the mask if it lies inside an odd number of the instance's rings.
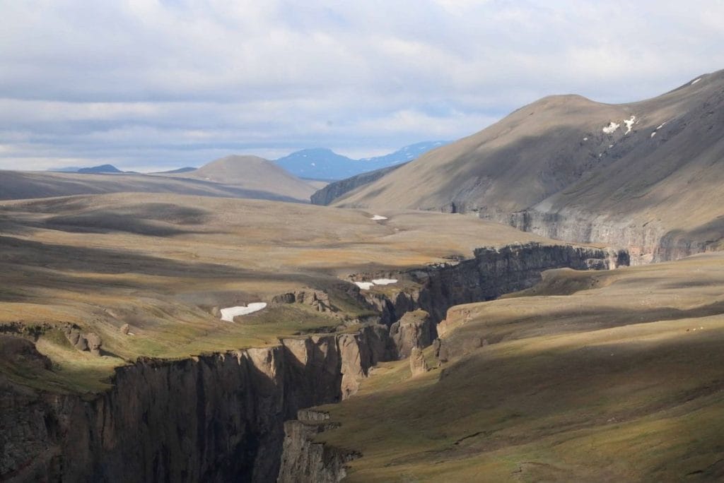
[[[518,448],[529,444],[536,445],[540,458],[560,461],[557,445],[595,441],[610,454],[580,462],[591,467],[605,466],[620,451],[618,445],[637,448],[641,437],[650,436],[662,461],[653,458],[641,467],[636,450],[616,456],[631,458],[628,466],[639,476],[648,475],[643,478],[647,481],[721,471],[712,463],[720,458],[718,435],[724,426],[699,409],[724,402],[722,336],[683,337],[581,345],[563,352],[542,344],[525,354],[488,346],[451,363],[433,385],[395,385],[358,394],[346,403],[346,414],[354,414],[355,421],[342,421],[341,434],[345,424],[353,426],[350,432],[360,434],[352,440],[376,450],[384,450],[384,435],[394,434],[394,453],[405,456],[384,462],[393,465],[480,458],[484,453],[505,456],[499,451],[517,457]],[[384,435],[379,433],[379,408],[385,412]],[[636,424],[652,432],[652,418],[665,420],[656,427],[660,434],[642,434]],[[399,445],[405,440],[410,442],[407,451]],[[666,477],[652,478],[657,471]]]

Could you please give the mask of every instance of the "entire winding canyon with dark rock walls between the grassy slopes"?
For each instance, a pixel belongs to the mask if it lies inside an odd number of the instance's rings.
[[[179,361],[143,359],[117,369],[107,393],[88,398],[0,379],[0,479],[274,481],[285,421],[352,396],[375,364],[429,344],[452,305],[529,287],[550,268],[613,268],[624,255],[539,244],[479,249],[471,260],[400,275],[414,291],[366,294],[384,325]],[[390,337],[390,325],[416,309],[429,312],[428,323],[397,324]],[[295,474],[337,481],[351,453],[313,446],[321,429],[299,426],[306,423],[287,423],[292,440],[280,481],[305,481]]]

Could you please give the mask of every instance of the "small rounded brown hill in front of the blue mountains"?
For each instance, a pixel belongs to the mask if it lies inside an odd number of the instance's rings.
[[[231,155],[211,161],[194,171],[177,173],[182,178],[200,179],[241,189],[308,201],[316,188],[258,156]]]

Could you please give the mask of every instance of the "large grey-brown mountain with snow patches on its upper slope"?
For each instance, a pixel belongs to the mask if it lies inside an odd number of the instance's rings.
[[[673,260],[724,247],[723,129],[724,71],[636,103],[554,95],[336,205],[477,213]]]

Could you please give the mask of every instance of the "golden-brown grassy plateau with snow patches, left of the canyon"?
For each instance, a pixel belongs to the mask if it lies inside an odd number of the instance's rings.
[[[264,346],[334,328],[340,316],[364,310],[340,289],[351,286],[344,281],[350,274],[542,240],[462,215],[385,210],[379,214],[386,220],[373,221],[375,214],[138,193],[1,202],[0,325],[43,332],[38,349],[57,370],[47,381],[7,358],[1,369],[43,387],[100,390],[113,367],[138,356]],[[329,291],[343,313],[271,304],[236,323],[215,313],[302,288]],[[64,324],[100,335],[104,356],[72,348],[59,329]],[[121,333],[125,324],[133,335]]]

